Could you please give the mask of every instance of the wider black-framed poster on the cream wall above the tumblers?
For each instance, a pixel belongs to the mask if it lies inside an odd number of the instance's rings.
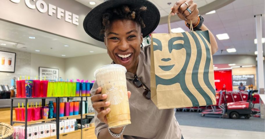
[[[55,81],[59,78],[59,69],[39,67],[39,77],[42,80],[46,78],[46,80]]]

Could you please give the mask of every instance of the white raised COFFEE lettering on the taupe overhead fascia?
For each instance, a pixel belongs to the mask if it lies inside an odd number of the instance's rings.
[[[10,0],[14,3],[19,3],[20,0]],[[35,2],[36,1],[36,2]],[[33,3],[34,2],[34,3]],[[79,25],[78,23],[78,18],[79,16],[74,14],[74,13],[71,13],[67,10],[64,10],[62,8],[59,8],[59,7],[56,7],[50,3],[46,3],[45,1],[43,0],[25,0],[25,3],[26,3],[26,6],[28,8],[31,8],[31,9],[36,9],[41,12],[41,13],[46,13],[48,12],[48,15],[50,16],[53,16],[53,14],[56,14],[56,17],[58,19],[61,19],[62,17],[65,17],[65,21],[69,22],[69,23],[72,23],[72,24],[75,24],[75,25]]]

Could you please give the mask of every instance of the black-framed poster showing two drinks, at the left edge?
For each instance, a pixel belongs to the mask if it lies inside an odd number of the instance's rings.
[[[16,53],[0,51],[0,72],[15,72]]]

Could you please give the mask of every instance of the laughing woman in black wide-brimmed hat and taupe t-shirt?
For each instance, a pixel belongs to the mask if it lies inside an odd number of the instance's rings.
[[[202,24],[202,17],[198,16],[197,5],[192,0],[179,0],[171,9],[172,15],[178,15],[187,22],[187,26],[191,20],[194,26],[198,25],[197,29],[208,30]],[[86,16],[83,24],[86,33],[105,43],[112,64],[126,67],[130,98],[132,124],[109,129],[105,115],[111,110],[104,110],[103,107],[109,106],[110,102],[102,101],[107,95],[102,95],[101,87],[94,83],[91,101],[96,111],[95,134],[98,139],[183,138],[174,110],[158,110],[150,100],[150,46],[142,48],[142,41],[143,37],[155,30],[159,21],[159,10],[147,0],[105,0]],[[217,44],[212,33],[210,42],[214,54]]]

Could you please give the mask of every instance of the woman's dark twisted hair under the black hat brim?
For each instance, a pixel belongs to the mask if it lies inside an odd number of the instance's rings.
[[[102,28],[100,33],[104,34],[109,28],[110,23],[115,19],[131,19],[140,25],[141,28],[145,28],[144,20],[142,19],[140,13],[146,10],[147,8],[145,6],[138,9],[132,9],[129,6],[121,6],[107,10],[102,16]]]

